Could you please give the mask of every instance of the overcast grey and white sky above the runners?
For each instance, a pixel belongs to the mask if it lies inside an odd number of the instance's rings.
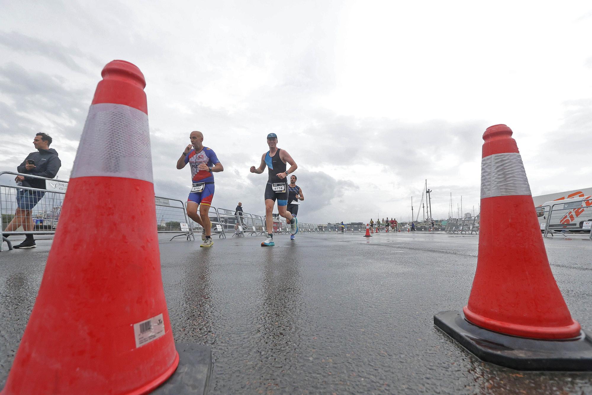
[[[298,164],[304,222],[478,209],[481,136],[514,131],[533,195],[592,186],[590,2],[0,1],[0,170],[52,135],[68,179],[102,67],[139,66],[157,195],[204,133],[214,206],[262,214],[266,135]],[[422,216],[420,215],[420,219]]]

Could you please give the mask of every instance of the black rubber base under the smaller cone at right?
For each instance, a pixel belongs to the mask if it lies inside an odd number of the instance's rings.
[[[434,324],[477,358],[516,370],[592,371],[592,336],[582,330],[567,340],[502,335],[465,320],[460,311],[440,311]]]

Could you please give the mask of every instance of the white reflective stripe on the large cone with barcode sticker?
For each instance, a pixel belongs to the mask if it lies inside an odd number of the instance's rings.
[[[124,104],[92,104],[70,176],[76,177],[123,177],[152,183],[146,113]]]

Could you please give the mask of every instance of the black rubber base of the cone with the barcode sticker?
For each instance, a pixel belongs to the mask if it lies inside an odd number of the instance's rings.
[[[179,366],[153,394],[207,395],[212,374],[212,352],[207,346],[194,343],[175,343]]]

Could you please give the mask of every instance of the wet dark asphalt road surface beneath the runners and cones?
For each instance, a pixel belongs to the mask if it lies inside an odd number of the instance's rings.
[[[14,238],[14,237],[13,237]],[[161,238],[177,341],[209,345],[211,394],[592,394],[592,373],[481,362],[433,326],[468,300],[477,236],[303,234]],[[592,330],[592,242],[547,240],[572,316]],[[0,253],[0,385],[33,308],[51,241]]]

